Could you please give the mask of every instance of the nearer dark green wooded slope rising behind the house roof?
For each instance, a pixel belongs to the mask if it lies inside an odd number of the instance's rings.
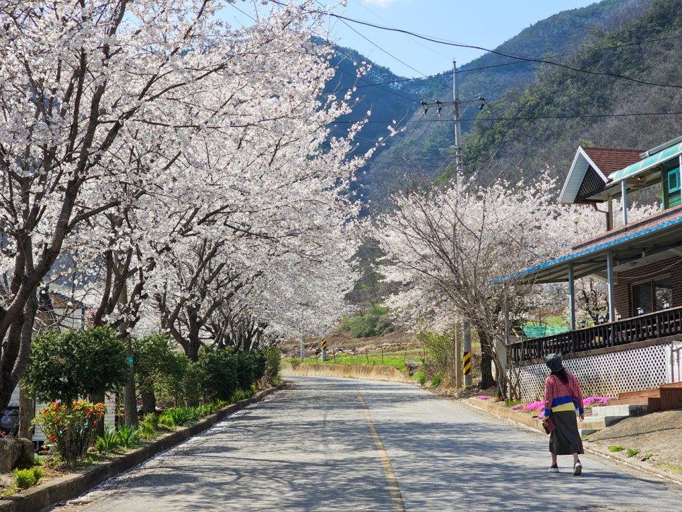
[[[578,145],[648,149],[682,134],[682,1],[655,0],[616,30],[594,33],[567,64],[510,90],[465,136],[469,172],[493,179],[568,172]],[[575,71],[575,70],[581,71]]]

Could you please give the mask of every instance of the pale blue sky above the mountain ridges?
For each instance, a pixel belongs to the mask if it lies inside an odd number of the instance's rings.
[[[335,5],[335,0],[317,0]],[[347,0],[334,13],[353,20],[407,30],[437,40],[493,49],[530,27],[561,11],[595,4],[595,0]],[[227,7],[230,23],[249,23],[239,12],[249,4]],[[339,18],[329,18],[328,39],[357,50],[371,61],[398,76],[415,78],[435,75],[467,64],[485,52],[420,40],[400,32],[368,27]]]

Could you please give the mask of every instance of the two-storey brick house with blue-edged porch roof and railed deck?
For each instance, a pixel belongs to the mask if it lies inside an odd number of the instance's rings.
[[[578,148],[560,201],[605,205],[606,231],[554,261],[498,280],[568,283],[570,331],[508,346],[508,371],[523,398],[542,396],[544,357],[551,352],[563,355],[587,394],[615,396],[682,380],[681,162],[682,137],[647,151]],[[614,199],[627,206],[644,189],[656,191],[661,209],[628,222],[622,208],[622,226],[614,228]],[[609,306],[603,323],[582,327],[574,282],[586,276],[606,282]]]

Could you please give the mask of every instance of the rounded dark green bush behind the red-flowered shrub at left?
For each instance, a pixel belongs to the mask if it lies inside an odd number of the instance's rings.
[[[128,381],[126,347],[107,326],[37,335],[24,375],[37,400],[61,400],[116,391]]]

